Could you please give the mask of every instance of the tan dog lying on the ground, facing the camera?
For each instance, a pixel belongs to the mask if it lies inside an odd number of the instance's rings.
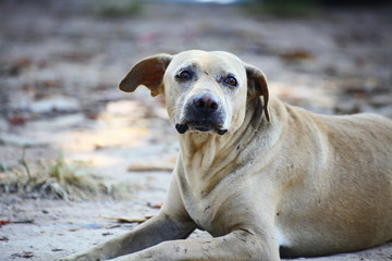
[[[120,89],[139,85],[164,95],[181,134],[168,197],[133,232],[65,260],[275,261],[392,239],[391,120],[269,99],[261,71],[225,52],[148,58]],[[182,240],[195,228],[215,238]]]

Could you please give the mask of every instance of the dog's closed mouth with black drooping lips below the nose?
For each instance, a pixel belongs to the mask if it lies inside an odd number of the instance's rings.
[[[201,133],[217,133],[219,135],[224,135],[228,129],[223,128],[220,124],[216,124],[209,120],[200,121],[187,121],[185,123],[175,124],[175,129],[180,134],[184,134],[188,130],[197,130]]]

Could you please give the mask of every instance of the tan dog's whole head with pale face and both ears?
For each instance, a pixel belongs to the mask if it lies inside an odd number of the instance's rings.
[[[180,134],[234,130],[244,121],[246,102],[259,96],[269,121],[266,76],[228,52],[193,50],[147,58],[130,71],[120,89],[130,92],[139,85],[152,96],[164,95],[169,117]]]

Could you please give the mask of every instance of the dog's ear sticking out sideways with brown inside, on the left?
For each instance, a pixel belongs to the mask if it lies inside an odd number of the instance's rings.
[[[158,54],[139,61],[121,80],[119,88],[132,92],[137,86],[144,85],[150,89],[151,96],[161,94],[163,74],[172,58],[170,54]]]

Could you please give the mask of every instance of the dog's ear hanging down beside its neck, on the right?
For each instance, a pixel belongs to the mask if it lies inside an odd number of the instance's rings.
[[[248,97],[256,98],[262,96],[262,110],[266,115],[268,122],[270,122],[270,116],[268,112],[268,83],[266,75],[261,72],[261,70],[245,64],[246,76],[247,76],[247,85],[248,85]]]

